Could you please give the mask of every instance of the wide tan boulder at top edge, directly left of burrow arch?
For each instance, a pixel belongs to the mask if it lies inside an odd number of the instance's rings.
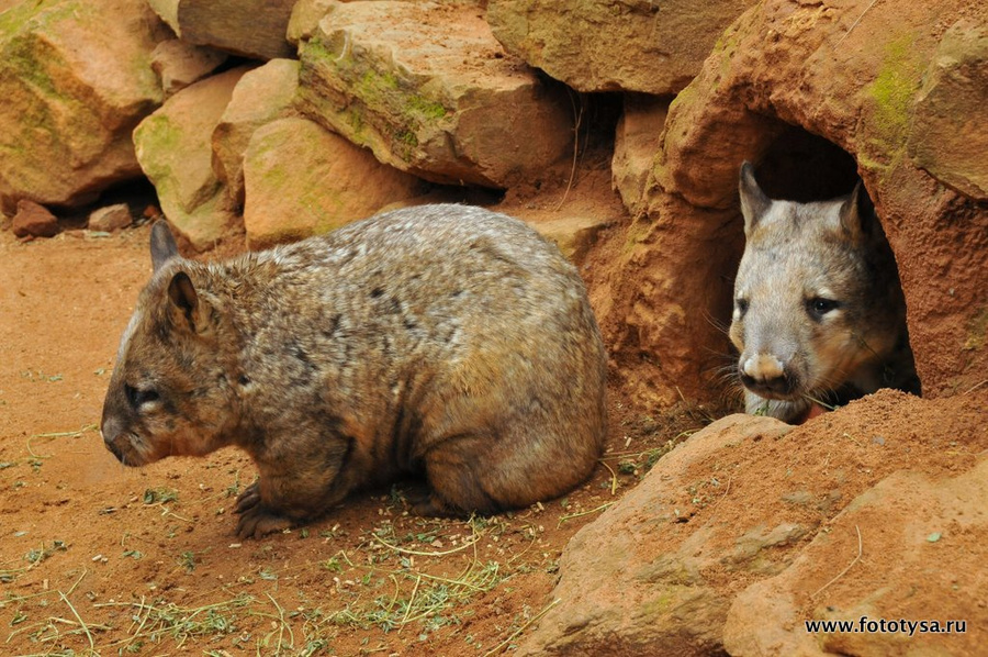
[[[676,93],[754,0],[490,0],[512,54],[580,91]]]

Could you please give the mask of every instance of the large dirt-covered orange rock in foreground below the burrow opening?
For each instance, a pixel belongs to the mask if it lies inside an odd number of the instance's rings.
[[[978,654],[985,403],[882,391],[795,428],[717,421],[573,537],[559,602],[518,655]],[[804,625],[862,615],[966,620],[968,634]]]

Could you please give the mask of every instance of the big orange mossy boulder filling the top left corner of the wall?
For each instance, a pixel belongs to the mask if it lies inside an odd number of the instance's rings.
[[[21,2],[0,15],[0,203],[92,201],[141,176],[131,131],[161,102],[144,2]]]

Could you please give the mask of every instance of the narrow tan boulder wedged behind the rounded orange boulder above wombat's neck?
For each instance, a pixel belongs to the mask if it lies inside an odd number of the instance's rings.
[[[255,131],[294,113],[299,62],[271,59],[247,73],[213,131],[213,170],[235,207],[244,205],[244,153]]]

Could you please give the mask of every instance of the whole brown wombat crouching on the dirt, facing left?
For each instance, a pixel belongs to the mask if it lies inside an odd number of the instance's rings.
[[[605,350],[586,290],[523,222],[426,205],[228,261],[154,275],[103,405],[127,466],[238,445],[257,482],[237,534],[424,475],[427,515],[494,513],[584,480],[606,433]]]

